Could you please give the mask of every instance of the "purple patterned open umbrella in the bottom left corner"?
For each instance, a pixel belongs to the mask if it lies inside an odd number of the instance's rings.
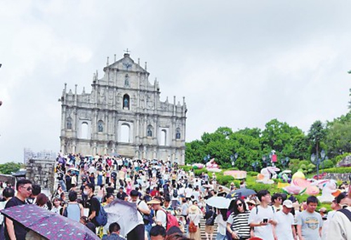
[[[36,205],[13,206],[0,211],[0,213],[13,221],[20,222],[23,226],[32,229],[32,231],[47,239],[99,239],[88,227],[80,222],[75,222],[57,213],[39,208]]]

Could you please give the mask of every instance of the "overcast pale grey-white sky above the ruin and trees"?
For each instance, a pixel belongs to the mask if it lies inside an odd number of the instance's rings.
[[[3,1],[0,162],[60,149],[64,83],[91,91],[107,56],[147,61],[161,100],[186,98],[187,141],[263,128],[304,131],[347,112],[350,1]]]

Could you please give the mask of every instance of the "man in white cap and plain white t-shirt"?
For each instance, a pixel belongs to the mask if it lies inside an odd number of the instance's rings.
[[[296,240],[296,231],[293,225],[293,215],[290,213],[293,208],[293,203],[290,200],[283,202],[282,211],[278,211],[274,215],[274,220],[277,221],[275,226],[275,234],[279,240]]]

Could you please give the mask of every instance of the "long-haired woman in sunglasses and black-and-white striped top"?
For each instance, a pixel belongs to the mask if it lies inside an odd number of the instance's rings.
[[[227,220],[227,231],[231,234],[232,239],[250,238],[249,215],[250,212],[247,211],[244,200],[236,199],[233,212]]]

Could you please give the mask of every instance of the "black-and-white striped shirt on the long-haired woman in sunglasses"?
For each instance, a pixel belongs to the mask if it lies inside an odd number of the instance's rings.
[[[249,226],[249,215],[250,212],[246,211],[245,213],[235,213],[230,214],[227,223],[230,223],[232,231],[236,232],[239,236],[244,238],[250,237],[250,226]]]

